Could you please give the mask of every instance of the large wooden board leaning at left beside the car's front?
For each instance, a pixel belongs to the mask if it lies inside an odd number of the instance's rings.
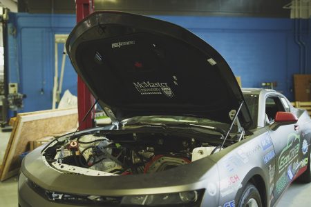
[[[19,170],[19,155],[30,150],[29,142],[77,128],[77,108],[45,110],[17,115],[0,169],[0,181]]]

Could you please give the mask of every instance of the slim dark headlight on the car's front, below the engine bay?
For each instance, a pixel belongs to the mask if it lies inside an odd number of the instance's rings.
[[[203,190],[155,195],[129,195],[122,198],[124,206],[196,206],[202,199]]]

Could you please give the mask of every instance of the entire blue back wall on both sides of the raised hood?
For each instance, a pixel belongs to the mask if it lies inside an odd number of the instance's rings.
[[[277,81],[276,90],[293,99],[292,75],[299,73],[299,46],[294,20],[242,17],[156,16],[183,26],[214,46],[227,60],[243,87]],[[20,83],[28,97],[23,111],[52,106],[54,34],[69,33],[74,15],[11,14],[9,27],[10,81]],[[303,40],[311,48],[310,20],[302,23]],[[16,32],[15,32],[16,31]],[[62,47],[59,47],[59,68]],[[307,73],[311,73],[311,51]],[[66,61],[64,89],[77,94],[77,75]]]

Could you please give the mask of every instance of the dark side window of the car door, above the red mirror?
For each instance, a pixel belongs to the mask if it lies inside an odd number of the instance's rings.
[[[267,115],[267,121],[274,121],[274,117],[278,111],[286,111],[281,99],[279,97],[268,97],[265,100],[265,114]]]

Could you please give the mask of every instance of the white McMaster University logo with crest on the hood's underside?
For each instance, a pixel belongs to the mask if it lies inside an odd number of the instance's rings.
[[[163,94],[167,97],[173,97],[173,90],[169,88],[168,83],[163,82],[150,82],[150,81],[138,81],[133,82],[135,89],[140,92],[140,95],[158,95]]]

